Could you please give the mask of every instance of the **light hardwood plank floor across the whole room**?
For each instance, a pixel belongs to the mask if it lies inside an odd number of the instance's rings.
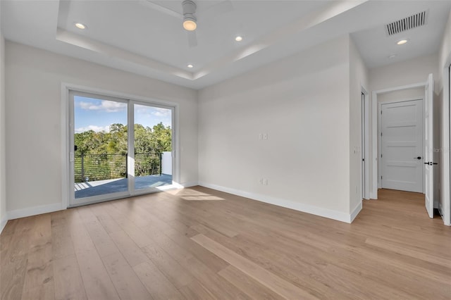
[[[11,220],[1,299],[451,299],[451,227],[379,196],[351,225],[203,187]]]

